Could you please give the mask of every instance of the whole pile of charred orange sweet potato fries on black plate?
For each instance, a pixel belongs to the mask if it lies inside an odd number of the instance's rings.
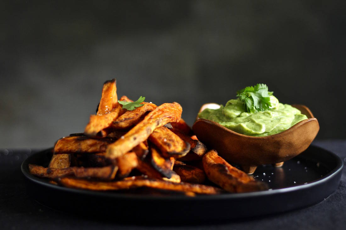
[[[132,102],[126,96],[120,101]],[[90,116],[84,133],[58,140],[48,167],[30,164],[30,173],[97,191],[145,188],[152,194],[195,196],[267,189],[215,150],[208,151],[181,118],[178,103],[141,104],[122,108],[116,80],[105,82],[97,114]]]

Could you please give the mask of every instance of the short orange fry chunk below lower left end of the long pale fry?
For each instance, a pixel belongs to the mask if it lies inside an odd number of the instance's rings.
[[[138,166],[137,155],[135,152],[128,152],[117,158],[118,178],[124,178],[130,174],[130,172]]]

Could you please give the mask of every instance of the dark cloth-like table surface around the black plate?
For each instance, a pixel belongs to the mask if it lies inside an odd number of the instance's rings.
[[[313,144],[336,153],[346,162],[346,141],[326,140]],[[323,202],[302,210],[222,222],[141,224],[134,217],[133,222],[119,223],[58,212],[29,197],[20,165],[37,151],[0,151],[0,229],[346,229],[346,166],[339,188]],[[179,222],[179,217],[172,217],[172,222]]]

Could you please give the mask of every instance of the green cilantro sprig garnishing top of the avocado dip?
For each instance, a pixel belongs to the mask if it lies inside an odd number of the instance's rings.
[[[266,84],[248,86],[237,91],[237,97],[244,103],[245,110],[251,113],[269,109],[270,95],[273,95],[273,92],[268,92]]]

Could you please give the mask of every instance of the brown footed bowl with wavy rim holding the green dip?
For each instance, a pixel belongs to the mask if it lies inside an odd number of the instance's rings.
[[[282,166],[306,150],[315,139],[319,124],[310,109],[304,105],[292,105],[305,114],[308,119],[298,122],[288,130],[271,136],[254,137],[236,133],[228,128],[207,119],[197,118],[192,130],[198,139],[209,148],[218,151],[219,155],[231,163],[242,166],[244,172],[254,173],[262,164]],[[204,104],[206,108],[216,109],[218,104]]]

